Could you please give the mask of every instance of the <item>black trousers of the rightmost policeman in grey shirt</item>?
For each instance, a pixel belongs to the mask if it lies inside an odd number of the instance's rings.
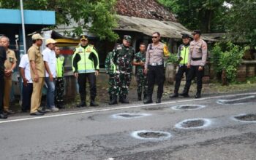
[[[189,92],[189,88],[191,86],[191,81],[194,79],[194,77],[197,78],[197,92],[201,92],[203,87],[203,74],[204,69],[202,71],[198,71],[199,65],[191,65],[191,68],[189,70],[189,75],[187,76],[187,81],[185,85],[184,92]]]

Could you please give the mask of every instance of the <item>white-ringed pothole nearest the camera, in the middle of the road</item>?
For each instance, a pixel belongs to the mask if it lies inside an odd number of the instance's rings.
[[[169,132],[141,130],[132,132],[132,137],[140,140],[167,140],[171,137]]]

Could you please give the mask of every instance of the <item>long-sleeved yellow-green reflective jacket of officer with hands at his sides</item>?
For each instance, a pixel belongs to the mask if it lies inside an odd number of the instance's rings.
[[[85,49],[80,47],[80,45],[76,47],[72,56],[72,62],[74,62],[76,54],[80,55],[80,60],[78,61],[78,73],[93,73],[95,70],[99,70],[99,57],[93,45],[88,45]],[[97,58],[97,62],[95,62],[97,63],[97,66],[94,66],[94,59],[91,58],[93,56]],[[73,71],[75,71],[73,64],[72,68]]]

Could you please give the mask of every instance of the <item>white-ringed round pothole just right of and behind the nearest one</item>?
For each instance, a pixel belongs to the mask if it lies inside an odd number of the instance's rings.
[[[186,119],[175,125],[179,129],[201,129],[211,124],[210,119]]]

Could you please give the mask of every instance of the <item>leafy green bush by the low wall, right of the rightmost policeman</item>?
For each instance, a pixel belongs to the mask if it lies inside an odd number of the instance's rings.
[[[244,55],[244,49],[231,42],[227,42],[223,46],[219,43],[215,44],[212,52],[212,62],[216,71],[224,70],[226,71],[228,81],[236,81],[237,68]]]

